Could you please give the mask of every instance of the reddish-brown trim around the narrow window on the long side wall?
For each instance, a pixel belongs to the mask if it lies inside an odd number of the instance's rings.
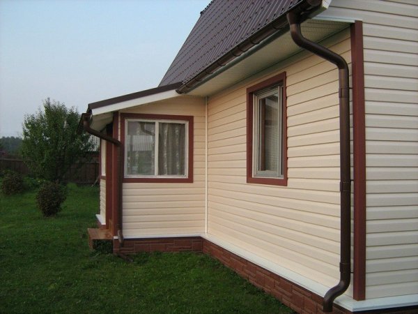
[[[283,167],[283,178],[258,178],[253,177],[253,100],[257,91],[266,89],[275,84],[281,84],[282,92],[282,140],[281,157]],[[286,72],[270,77],[268,80],[255,84],[247,88],[247,183],[251,184],[270,184],[275,186],[287,186],[287,114],[286,114]]]

